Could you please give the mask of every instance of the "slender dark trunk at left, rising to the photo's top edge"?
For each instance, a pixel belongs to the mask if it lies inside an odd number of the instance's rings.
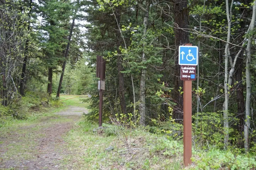
[[[29,2],[29,13],[28,13],[28,32],[30,31],[30,16],[31,16],[31,12],[32,12],[32,0],[30,0]],[[25,74],[26,74],[26,65],[27,65],[27,58],[28,58],[28,43],[29,43],[29,39],[27,38],[26,43],[25,43],[25,51],[24,51],[24,59],[23,59],[23,66],[22,66],[22,73],[21,73],[21,79],[20,79],[20,94],[22,96],[25,96],[24,93],[24,78],[25,78]]]

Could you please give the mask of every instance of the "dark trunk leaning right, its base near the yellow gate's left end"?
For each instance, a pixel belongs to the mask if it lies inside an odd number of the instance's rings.
[[[75,16],[76,16],[76,12],[74,14]],[[67,44],[66,52],[65,52],[65,55],[64,55],[64,62],[63,62],[63,65],[62,65],[62,71],[61,71],[61,75],[60,75],[60,82],[59,82],[59,87],[58,87],[56,98],[58,98],[60,96],[62,80],[63,80],[63,76],[64,76],[64,72],[65,72],[65,67],[66,67],[66,63],[67,63],[67,58],[68,58],[68,51],[69,51],[69,46],[70,46],[70,40],[71,40],[71,36],[72,36],[74,25],[75,25],[75,19],[76,19],[75,16],[74,16],[74,18],[72,20],[72,24],[71,24],[71,28],[70,28],[70,33],[69,33],[69,37],[68,37],[68,44]]]

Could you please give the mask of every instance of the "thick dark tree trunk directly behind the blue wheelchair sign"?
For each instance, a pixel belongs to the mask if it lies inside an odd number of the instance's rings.
[[[187,1],[173,1],[174,4],[174,22],[179,26],[179,28],[188,28],[188,7]],[[175,78],[174,78],[174,100],[177,103],[177,108],[174,111],[173,118],[174,119],[183,119],[183,95],[178,91],[183,88],[183,82],[180,80],[180,66],[178,65],[179,54],[178,54],[178,46],[189,43],[189,33],[185,32],[179,28],[174,29],[175,34]],[[183,91],[183,89],[182,89]]]

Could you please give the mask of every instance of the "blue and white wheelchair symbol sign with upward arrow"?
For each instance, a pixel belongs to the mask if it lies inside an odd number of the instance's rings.
[[[197,46],[179,46],[179,65],[197,66],[198,47]]]

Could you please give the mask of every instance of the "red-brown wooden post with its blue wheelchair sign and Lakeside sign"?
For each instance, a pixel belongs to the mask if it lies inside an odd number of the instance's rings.
[[[186,46],[191,46],[189,48]],[[181,48],[182,47],[182,48]],[[183,81],[183,162],[191,165],[192,157],[192,81],[196,79],[198,64],[197,47],[192,44],[179,46],[180,79]],[[196,57],[195,57],[195,56]],[[196,60],[196,61],[195,61]]]

